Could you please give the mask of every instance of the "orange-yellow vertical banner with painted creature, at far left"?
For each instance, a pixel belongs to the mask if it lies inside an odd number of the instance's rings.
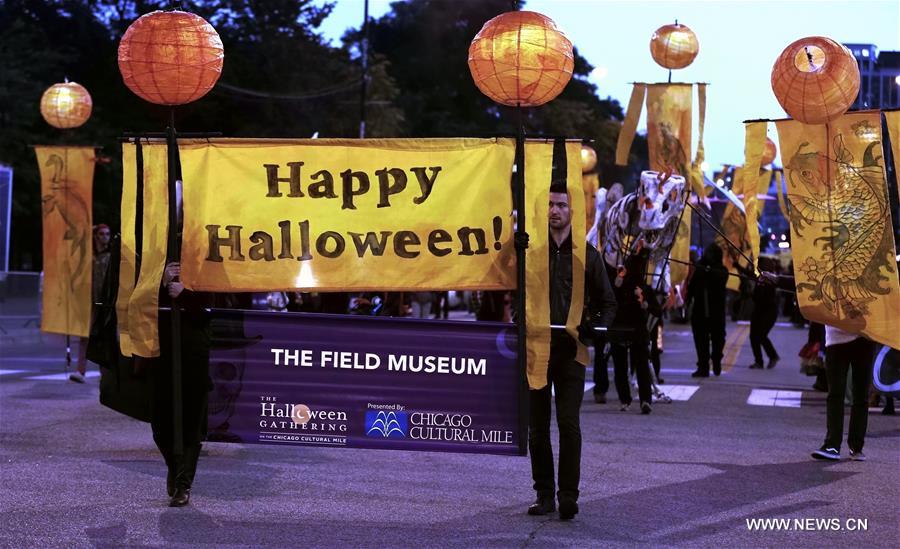
[[[87,337],[91,323],[93,147],[35,147],[41,172],[41,330]]]

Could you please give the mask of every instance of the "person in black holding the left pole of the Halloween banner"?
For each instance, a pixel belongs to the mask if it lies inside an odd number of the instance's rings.
[[[172,330],[166,311],[159,315],[160,355],[150,361],[152,397],[151,421],[153,440],[168,468],[166,491],[169,506],[187,505],[197,471],[201,441],[206,437],[206,403],[211,387],[209,379],[210,326],[206,309],[212,306],[211,294],[185,290],[178,280],[181,266],[169,263],[163,272],[160,308],[175,302],[181,308],[181,387],[182,447],[174,452],[174,419],[172,416]],[[178,298],[175,301],[175,298]]]

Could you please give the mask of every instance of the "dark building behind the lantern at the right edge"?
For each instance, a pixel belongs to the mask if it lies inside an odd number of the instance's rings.
[[[900,108],[900,51],[874,44],[844,44],[859,63],[859,95],[852,110]]]

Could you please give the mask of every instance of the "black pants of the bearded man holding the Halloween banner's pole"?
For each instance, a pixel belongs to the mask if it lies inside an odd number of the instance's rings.
[[[553,447],[550,444],[550,387],[556,393],[556,424],[559,427],[559,499],[578,500],[581,477],[581,401],[584,398],[584,366],[571,359],[554,360],[550,355],[547,386],[531,390],[528,447],[531,476],[539,497],[552,497]]]

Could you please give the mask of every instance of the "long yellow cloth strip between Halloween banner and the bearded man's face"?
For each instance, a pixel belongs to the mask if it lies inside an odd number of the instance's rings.
[[[550,220],[547,204],[552,176],[553,144],[526,143],[525,232],[529,242],[525,253],[525,351],[528,386],[532,389],[547,385],[550,361]],[[574,235],[572,242],[575,242]]]

